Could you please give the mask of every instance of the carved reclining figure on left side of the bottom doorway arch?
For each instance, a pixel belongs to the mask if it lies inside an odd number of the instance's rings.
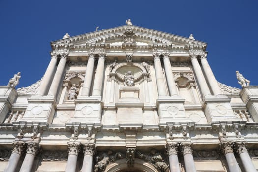
[[[117,159],[122,158],[122,154],[120,152],[115,153],[109,150],[107,153],[102,153],[101,156],[96,157],[97,164],[95,165],[94,172],[104,172],[107,165]]]

